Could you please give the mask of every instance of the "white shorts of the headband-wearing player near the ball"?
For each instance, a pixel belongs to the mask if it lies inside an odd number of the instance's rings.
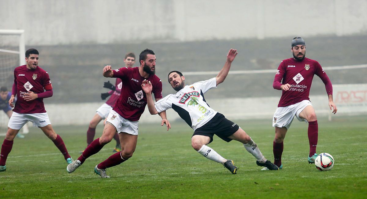
[[[290,106],[285,107],[278,107],[275,110],[274,117],[273,117],[273,126],[277,127],[289,127],[292,124],[294,116],[301,122],[305,121],[308,122],[304,118],[299,117],[299,113],[301,113],[306,106],[312,106],[310,100],[303,100],[302,102],[298,102],[297,104],[292,104]]]

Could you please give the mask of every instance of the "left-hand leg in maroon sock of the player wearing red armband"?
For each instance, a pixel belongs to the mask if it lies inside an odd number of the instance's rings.
[[[6,159],[8,158],[11,148],[13,147],[14,137],[17,135],[18,132],[19,130],[11,128],[8,128],[8,131],[6,132],[3,145],[1,145],[0,172],[4,172],[6,170]]]

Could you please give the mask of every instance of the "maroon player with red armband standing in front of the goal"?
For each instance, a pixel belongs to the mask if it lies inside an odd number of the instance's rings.
[[[28,49],[25,52],[27,64],[14,70],[14,84],[9,105],[14,107],[12,103],[15,95],[17,95],[17,102],[15,102],[13,114],[9,119],[8,131],[3,145],[1,145],[0,172],[6,170],[5,163],[13,146],[14,137],[28,121],[33,122],[34,126],[38,126],[54,142],[66,162],[72,162],[63,140],[52,128],[44,108],[43,98],[51,97],[53,92],[50,77],[45,70],[38,66],[38,59],[38,51],[34,48]]]

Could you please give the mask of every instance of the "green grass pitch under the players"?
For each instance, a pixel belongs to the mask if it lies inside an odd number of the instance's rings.
[[[152,116],[155,117],[155,116]],[[269,121],[236,121],[273,161],[274,129]],[[108,179],[94,166],[112,155],[115,141],[87,159],[74,173],[66,172],[63,156],[41,130],[31,128],[15,139],[0,172],[0,198],[365,198],[367,194],[367,117],[319,119],[317,152],[334,156],[331,171],[308,164],[307,125],[294,120],[284,141],[283,170],[261,171],[237,141],[214,137],[209,144],[238,167],[231,174],[219,163],[193,150],[193,130],[171,121],[141,124],[136,151],[121,165],[107,169]],[[55,127],[76,159],[86,147],[86,126]],[[96,137],[102,132],[98,126]],[[1,143],[4,136],[0,137]]]

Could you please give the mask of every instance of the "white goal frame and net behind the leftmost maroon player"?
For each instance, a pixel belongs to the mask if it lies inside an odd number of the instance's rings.
[[[25,65],[24,30],[0,30],[0,86],[9,92],[14,82],[15,67]],[[0,110],[0,134],[5,133],[8,116]]]

